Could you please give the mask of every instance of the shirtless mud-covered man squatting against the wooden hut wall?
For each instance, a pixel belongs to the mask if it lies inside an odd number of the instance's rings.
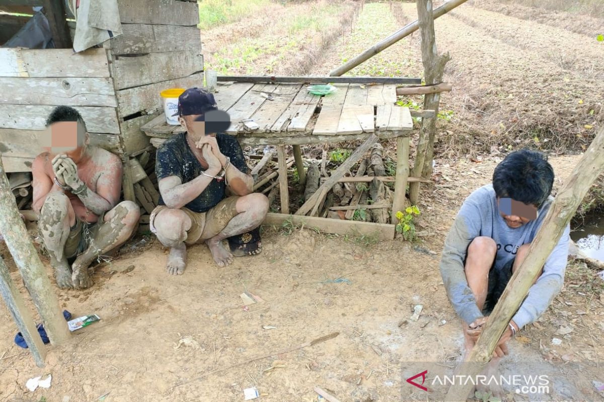
[[[62,288],[89,287],[88,266],[117,250],[137,227],[140,209],[118,204],[120,158],[90,146],[86,124],[72,107],[59,106],[47,119],[49,152],[32,165],[33,210],[40,237]]]

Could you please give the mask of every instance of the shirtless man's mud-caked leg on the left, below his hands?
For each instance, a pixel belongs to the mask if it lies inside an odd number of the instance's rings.
[[[65,243],[69,229],[76,224],[76,213],[69,198],[62,192],[50,193],[40,210],[38,229],[44,247],[50,255],[57,285],[61,288],[73,287],[71,269],[65,256]]]

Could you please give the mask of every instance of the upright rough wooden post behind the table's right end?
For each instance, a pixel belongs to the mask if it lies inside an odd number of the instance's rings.
[[[439,83],[443,78],[445,64],[451,60],[449,54],[440,55],[436,51],[436,39],[434,36],[434,18],[432,17],[432,0],[417,1],[417,16],[420,21],[420,33],[422,34],[422,63],[426,85]],[[435,115],[439,113],[440,93],[424,95],[423,108],[434,110]],[[436,120],[433,118],[422,118],[422,126],[417,140],[417,151],[413,177],[425,177],[432,171],[432,154],[434,148],[434,134],[436,133]],[[426,165],[429,168],[426,168]],[[409,187],[409,199],[411,204],[417,204],[419,198],[419,182],[411,183]]]

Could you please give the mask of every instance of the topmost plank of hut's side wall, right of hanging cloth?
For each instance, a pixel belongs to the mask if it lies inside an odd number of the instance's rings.
[[[120,20],[124,24],[199,24],[198,5],[175,0],[118,0]]]

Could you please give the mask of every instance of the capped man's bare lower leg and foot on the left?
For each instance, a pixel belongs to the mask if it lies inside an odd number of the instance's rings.
[[[187,266],[187,230],[191,228],[191,218],[179,209],[164,209],[153,220],[156,235],[165,247],[170,247],[165,266],[170,275],[182,275]]]

